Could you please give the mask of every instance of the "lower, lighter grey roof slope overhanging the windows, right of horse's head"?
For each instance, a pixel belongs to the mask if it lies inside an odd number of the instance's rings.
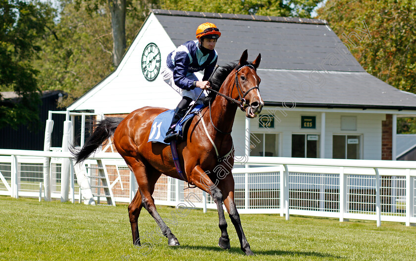
[[[294,101],[300,107],[416,110],[416,94],[365,72],[258,69],[258,74],[266,105]]]

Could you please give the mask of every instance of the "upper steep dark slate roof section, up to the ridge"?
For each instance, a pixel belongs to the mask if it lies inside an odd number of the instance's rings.
[[[221,32],[215,46],[219,65],[239,59],[248,49],[249,57],[255,58],[261,53],[260,68],[314,70],[328,54],[336,53],[335,48],[341,43],[326,21],[320,19],[158,9],[153,12],[176,46],[195,40],[199,24],[214,23]],[[342,60],[333,70],[364,72],[351,54],[349,58],[348,61]]]

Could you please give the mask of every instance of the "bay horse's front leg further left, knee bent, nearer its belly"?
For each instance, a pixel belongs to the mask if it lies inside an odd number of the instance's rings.
[[[221,230],[221,237],[218,240],[218,246],[222,249],[230,249],[230,239],[227,232],[227,221],[225,220],[224,210],[222,208],[222,193],[221,190],[215,186],[200,166],[194,168],[190,179],[200,189],[206,191],[212,196],[218,209],[219,229]]]

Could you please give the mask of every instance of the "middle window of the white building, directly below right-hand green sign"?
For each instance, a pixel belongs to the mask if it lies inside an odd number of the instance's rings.
[[[292,157],[317,158],[319,153],[319,135],[292,134]]]

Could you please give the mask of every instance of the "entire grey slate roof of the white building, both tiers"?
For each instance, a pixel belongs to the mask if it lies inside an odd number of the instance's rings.
[[[261,53],[258,74],[266,105],[290,99],[303,107],[416,110],[415,94],[366,73],[351,53],[341,55],[340,46],[344,51],[347,48],[325,20],[159,9],[152,12],[176,46],[195,39],[199,24],[214,23],[221,32],[215,47],[219,65],[239,59],[245,49],[249,60]]]

